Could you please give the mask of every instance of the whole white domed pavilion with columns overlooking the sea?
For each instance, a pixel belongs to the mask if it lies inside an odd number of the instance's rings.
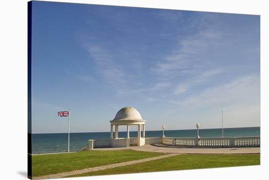
[[[142,119],[140,113],[133,107],[125,107],[119,110],[115,118],[110,121],[111,135],[110,144],[112,147],[129,147],[130,144],[142,146],[145,144],[145,120]],[[137,137],[129,137],[129,126],[137,125]],[[143,125],[143,135],[141,137],[141,125]],[[113,126],[115,126],[115,137],[113,137]],[[127,127],[126,138],[118,137],[118,126]],[[134,143],[133,143],[134,142]]]

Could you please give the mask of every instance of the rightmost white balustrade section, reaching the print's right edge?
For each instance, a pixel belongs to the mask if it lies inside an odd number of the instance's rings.
[[[260,143],[261,143],[260,136],[234,137],[235,147],[260,146]]]

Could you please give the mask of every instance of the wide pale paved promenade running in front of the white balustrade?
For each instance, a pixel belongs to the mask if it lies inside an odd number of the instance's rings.
[[[96,148],[93,150],[121,150],[133,149],[136,151],[149,151],[159,153],[176,153],[176,154],[257,154],[260,153],[260,147],[247,147],[247,148],[185,148],[179,146],[168,146],[163,144],[144,146],[131,146],[128,148]],[[90,150],[91,151],[91,150]]]

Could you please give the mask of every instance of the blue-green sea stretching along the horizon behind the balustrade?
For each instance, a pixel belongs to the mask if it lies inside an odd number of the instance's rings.
[[[197,130],[165,130],[166,137],[196,137]],[[162,136],[162,131],[146,131],[146,137]],[[130,132],[136,137],[137,132]],[[222,129],[200,129],[200,137],[221,137]],[[260,127],[224,128],[225,137],[260,136]],[[119,137],[126,137],[126,132],[119,132]],[[110,132],[102,133],[70,133],[70,151],[78,151],[89,139],[110,138]],[[32,134],[32,154],[67,152],[68,134]]]

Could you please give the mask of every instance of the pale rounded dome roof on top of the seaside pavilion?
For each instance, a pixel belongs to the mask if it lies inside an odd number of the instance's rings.
[[[115,120],[143,120],[140,113],[133,107],[125,107],[116,113]]]

